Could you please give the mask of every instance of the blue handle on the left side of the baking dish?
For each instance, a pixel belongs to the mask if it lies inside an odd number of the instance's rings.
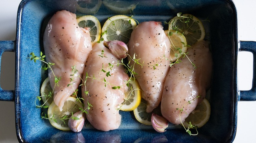
[[[0,65],[1,58],[4,52],[14,52],[15,41],[0,41]],[[0,68],[1,71],[1,68]],[[0,101],[14,101],[14,90],[3,90],[0,87]]]

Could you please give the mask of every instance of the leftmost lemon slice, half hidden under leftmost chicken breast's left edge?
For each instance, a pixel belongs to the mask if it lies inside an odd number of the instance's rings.
[[[50,85],[49,77],[47,77],[42,86],[41,86],[41,98],[45,105],[50,106],[50,104],[53,102],[53,89]]]

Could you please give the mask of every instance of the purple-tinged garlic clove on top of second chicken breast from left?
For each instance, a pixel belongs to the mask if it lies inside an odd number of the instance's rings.
[[[128,53],[128,47],[127,45],[118,40],[113,40],[113,41],[104,41],[104,46],[106,46],[111,53],[117,58],[117,59],[122,59],[127,57]]]

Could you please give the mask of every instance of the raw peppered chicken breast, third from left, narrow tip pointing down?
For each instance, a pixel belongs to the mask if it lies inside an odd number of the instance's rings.
[[[142,22],[132,32],[128,43],[129,55],[139,59],[143,67],[135,64],[134,71],[142,89],[142,98],[148,103],[146,112],[156,108],[162,96],[163,82],[169,70],[170,41],[160,22]],[[130,66],[134,62],[131,60]],[[158,66],[154,66],[158,64]]]

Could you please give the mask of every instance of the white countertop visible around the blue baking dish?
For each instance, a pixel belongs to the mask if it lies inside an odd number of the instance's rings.
[[[2,1],[0,5],[0,40],[15,40],[17,10],[21,0]],[[233,0],[238,12],[239,40],[256,41],[256,1]],[[239,90],[251,88],[252,54],[239,53]],[[2,58],[1,87],[14,89],[14,54],[6,53]],[[7,69],[7,70],[3,70]],[[3,76],[3,75],[4,76]],[[256,102],[238,102],[237,133],[234,143],[255,142]],[[15,130],[13,102],[0,101],[0,142],[18,142]]]

